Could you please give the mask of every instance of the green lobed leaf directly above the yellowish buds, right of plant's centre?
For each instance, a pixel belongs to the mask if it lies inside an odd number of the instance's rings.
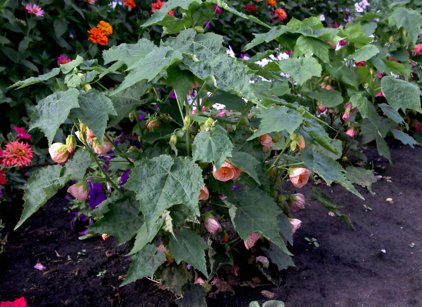
[[[279,132],[284,129],[288,133],[293,133],[303,121],[299,112],[284,106],[275,106],[261,113],[258,117],[261,118],[260,127],[249,137],[248,141],[265,133]]]

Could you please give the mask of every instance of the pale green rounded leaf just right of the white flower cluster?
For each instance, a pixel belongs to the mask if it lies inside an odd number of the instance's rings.
[[[308,56],[302,59],[284,59],[279,62],[279,67],[282,72],[292,76],[293,80],[300,85],[309,80],[312,76],[321,76],[322,67],[318,60]]]

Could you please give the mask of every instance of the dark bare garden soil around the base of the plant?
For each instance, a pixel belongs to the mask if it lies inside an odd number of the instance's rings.
[[[375,170],[391,177],[391,182],[381,179],[373,184],[374,195],[357,186],[365,201],[338,185],[317,186],[344,206],[341,211],[356,231],[310,202],[294,214],[302,221],[289,247],[296,267],[279,273],[281,286],[268,285],[262,275],[250,276],[262,278],[262,286],[235,287],[236,295],[207,299],[208,306],[262,303],[268,300],[262,290],[273,292],[272,299],[286,307],[422,306],[422,147],[390,147],[395,167],[379,158],[376,148],[365,151]],[[312,198],[312,186],[309,182],[297,189],[285,182],[283,188]],[[119,288],[119,276],[130,264],[130,258],[123,257],[126,245],[116,247],[114,238],[78,240],[83,229],[71,226],[64,196],[62,189],[16,231],[22,204],[15,203],[10,210],[2,205],[0,217],[8,223],[2,233],[8,232],[8,243],[7,252],[0,254],[0,300],[24,296],[30,307],[176,306],[170,291],[146,278]],[[372,211],[365,211],[364,204]],[[319,247],[309,245],[305,237],[316,238]],[[33,268],[38,261],[47,271]]]

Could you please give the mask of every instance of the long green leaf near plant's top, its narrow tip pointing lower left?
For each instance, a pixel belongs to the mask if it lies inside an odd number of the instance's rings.
[[[127,74],[120,86],[111,95],[115,95],[143,79],[151,81],[160,72],[173,64],[174,61],[181,59],[182,54],[168,46],[160,47],[156,51],[148,53],[141,61],[137,61],[128,67],[128,69],[131,69],[130,73]]]

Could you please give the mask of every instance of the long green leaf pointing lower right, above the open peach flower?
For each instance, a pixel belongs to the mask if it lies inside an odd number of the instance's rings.
[[[346,188],[346,190],[349,190],[363,200],[365,199],[357,192],[349,180],[346,179],[343,174],[344,169],[334,159],[321,152],[314,151],[304,151],[302,155],[300,155],[300,159],[308,168],[312,168],[314,172],[324,179],[325,182],[327,182],[327,185],[330,185],[331,181],[338,183]]]

